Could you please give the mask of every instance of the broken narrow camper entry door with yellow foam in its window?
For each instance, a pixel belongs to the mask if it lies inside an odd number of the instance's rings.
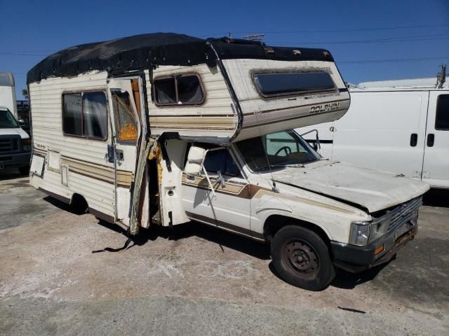
[[[140,111],[143,111],[140,78],[112,78],[108,82],[109,111],[115,155],[116,221],[128,226],[131,186],[135,178],[136,158],[141,137]],[[110,152],[110,151],[109,151]]]

